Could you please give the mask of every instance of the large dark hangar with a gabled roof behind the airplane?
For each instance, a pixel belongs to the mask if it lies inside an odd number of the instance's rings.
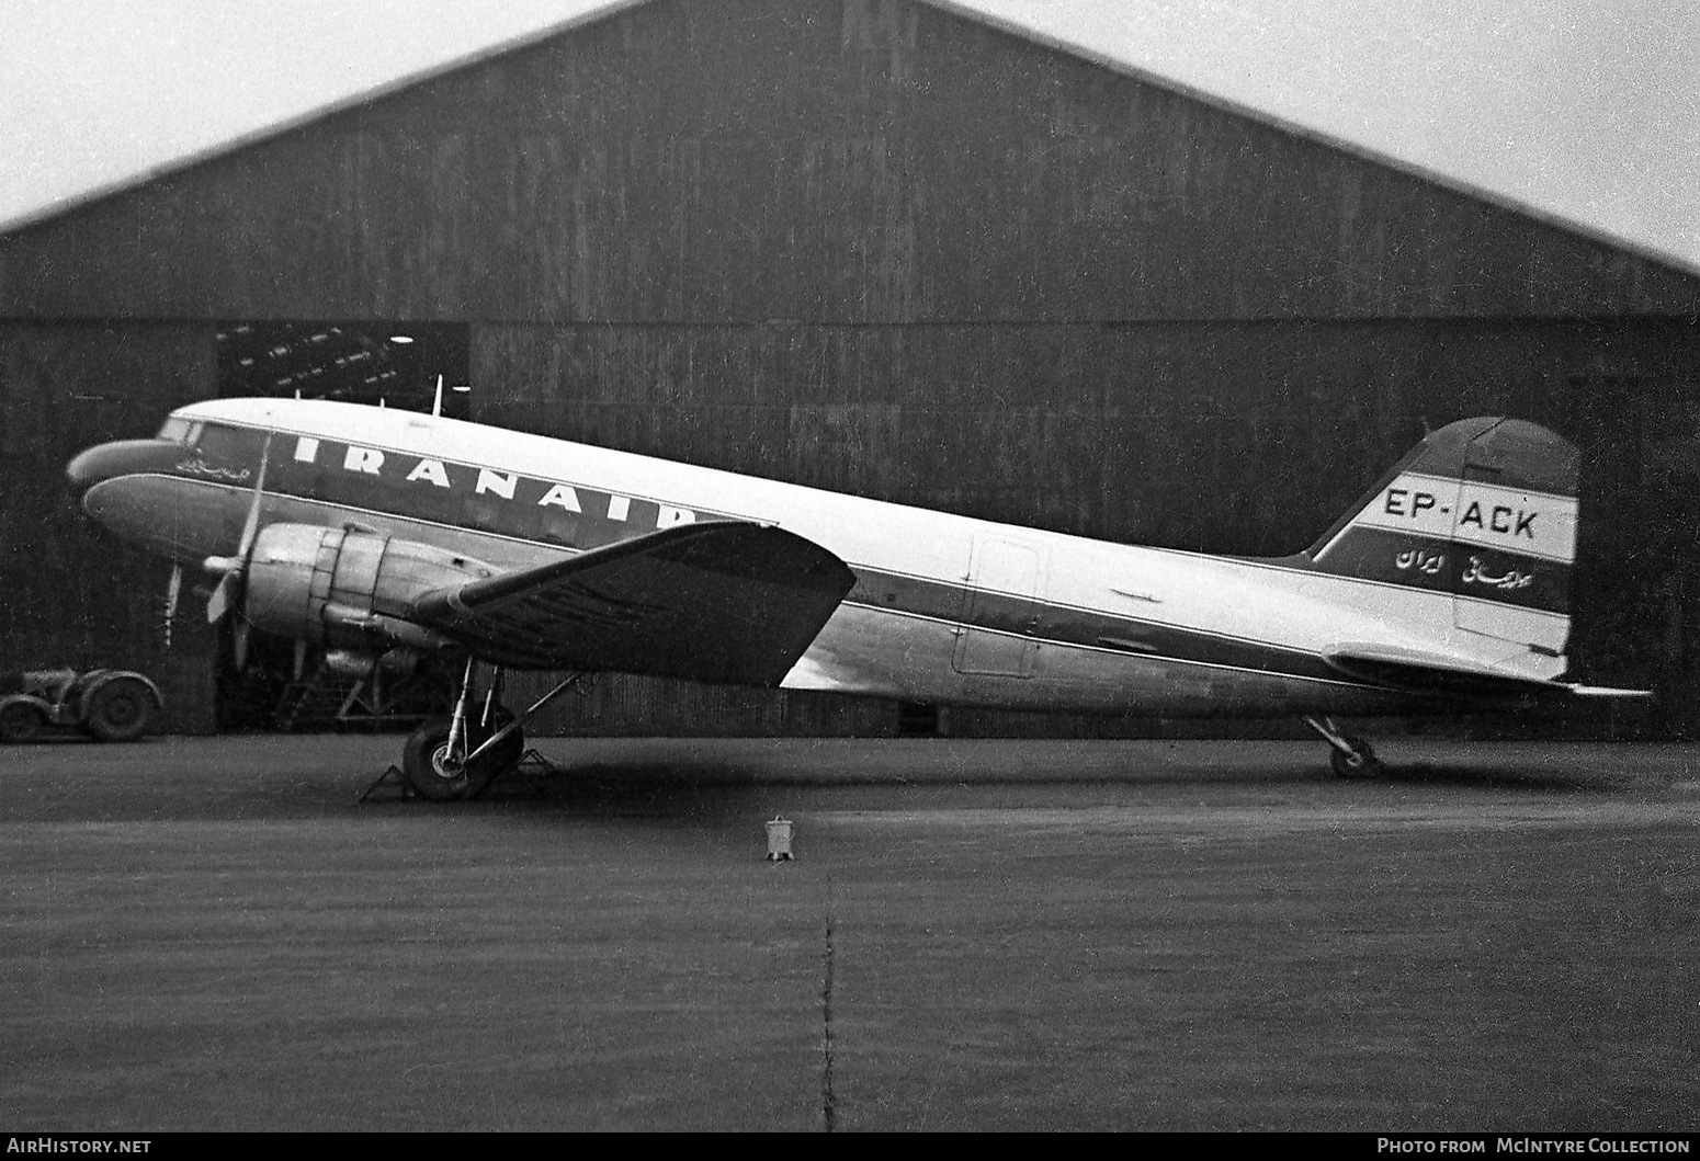
[[[0,235],[5,665],[146,670],[182,731],[405,712],[233,673],[194,600],[167,648],[165,568],[71,510],[75,450],[199,398],[444,376],[484,423],[1234,554],[1511,413],[1583,452],[1572,658],[1681,736],[1697,316],[1692,270],[947,3],[644,0]],[[552,724],[933,726],[622,677]]]

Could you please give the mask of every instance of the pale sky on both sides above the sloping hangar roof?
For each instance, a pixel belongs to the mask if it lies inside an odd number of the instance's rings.
[[[0,228],[609,7],[624,3],[0,0]],[[1700,269],[1697,0],[942,7]]]

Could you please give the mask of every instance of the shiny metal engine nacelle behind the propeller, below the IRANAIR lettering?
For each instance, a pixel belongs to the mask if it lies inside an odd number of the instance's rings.
[[[437,649],[449,639],[406,619],[413,598],[495,573],[450,549],[352,525],[272,524],[253,542],[243,614],[255,629],[330,649]]]

